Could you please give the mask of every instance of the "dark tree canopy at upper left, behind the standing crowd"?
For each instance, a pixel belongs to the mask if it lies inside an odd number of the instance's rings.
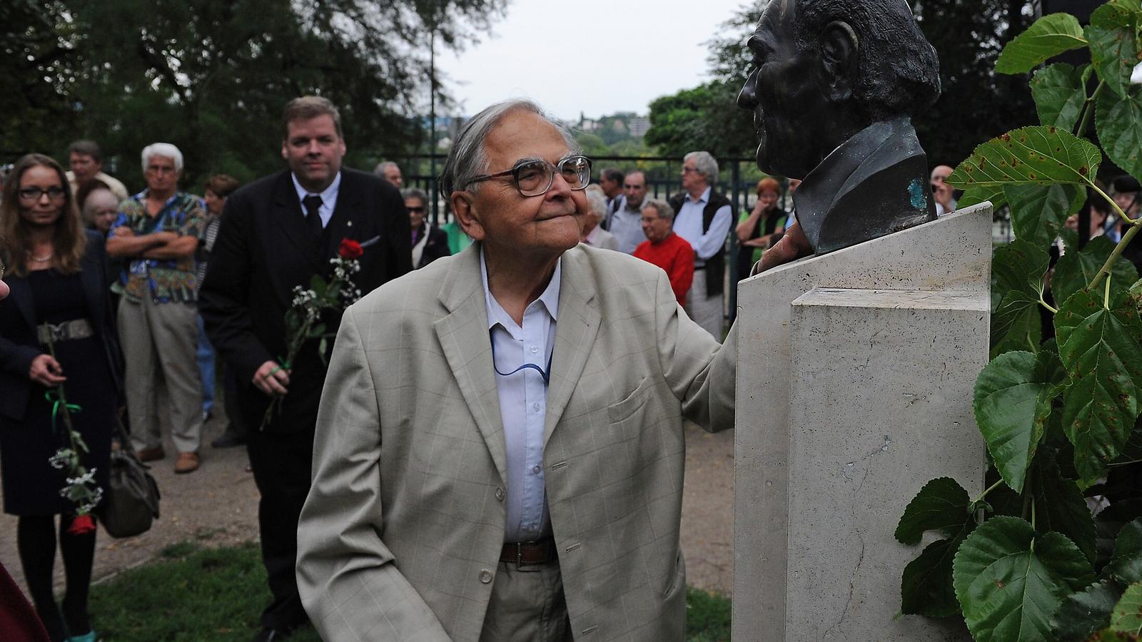
[[[428,103],[428,42],[463,48],[507,0],[7,0],[0,7],[0,151],[59,158],[93,138],[140,184],[137,154],[179,146],[184,184],[281,167],[280,114],[317,94],[349,149],[412,151]],[[439,83],[439,80],[437,80]],[[437,101],[448,104],[447,93]]]

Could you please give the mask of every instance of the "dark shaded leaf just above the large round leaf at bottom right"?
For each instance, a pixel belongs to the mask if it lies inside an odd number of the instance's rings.
[[[1035,466],[1035,530],[1065,535],[1094,563],[1097,533],[1086,497],[1075,480],[1059,472],[1054,456],[1044,454]]]

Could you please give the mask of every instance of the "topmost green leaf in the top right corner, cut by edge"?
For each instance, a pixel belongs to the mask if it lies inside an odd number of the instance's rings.
[[[1099,78],[1118,96],[1129,89],[1131,71],[1137,64],[1139,9],[1134,0],[1110,0],[1091,14],[1084,34],[1091,45],[1091,62]]]

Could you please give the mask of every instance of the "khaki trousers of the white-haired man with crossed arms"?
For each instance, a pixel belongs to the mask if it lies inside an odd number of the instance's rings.
[[[136,450],[162,446],[160,370],[167,383],[170,433],[179,452],[196,452],[202,439],[202,379],[195,361],[198,311],[193,303],[119,304],[119,338],[127,363],[127,411]]]

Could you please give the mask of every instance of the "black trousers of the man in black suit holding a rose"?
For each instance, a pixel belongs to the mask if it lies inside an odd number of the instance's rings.
[[[295,577],[297,522],[309,493],[313,466],[313,425],[293,434],[251,428],[246,434],[254,481],[262,493],[258,527],[262,561],[266,565],[273,601],[262,612],[262,625],[289,629],[308,621]]]

